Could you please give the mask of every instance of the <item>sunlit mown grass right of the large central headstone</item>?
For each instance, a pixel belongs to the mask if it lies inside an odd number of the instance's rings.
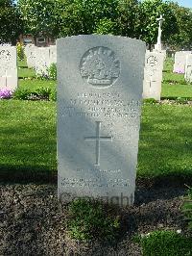
[[[192,176],[192,107],[143,107],[138,176]]]

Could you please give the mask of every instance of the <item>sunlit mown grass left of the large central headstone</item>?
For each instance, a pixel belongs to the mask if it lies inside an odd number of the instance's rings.
[[[55,103],[1,100],[0,116],[2,179],[47,179],[57,169]]]

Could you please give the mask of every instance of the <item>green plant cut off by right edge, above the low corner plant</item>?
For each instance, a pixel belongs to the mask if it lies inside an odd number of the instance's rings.
[[[186,196],[184,203],[181,207],[182,212],[188,221],[188,227],[192,230],[192,187],[188,190],[188,195]]]

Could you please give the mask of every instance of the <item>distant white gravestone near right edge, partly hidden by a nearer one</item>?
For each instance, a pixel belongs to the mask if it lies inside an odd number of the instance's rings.
[[[185,73],[186,58],[189,54],[191,54],[191,51],[176,52],[173,72]]]

